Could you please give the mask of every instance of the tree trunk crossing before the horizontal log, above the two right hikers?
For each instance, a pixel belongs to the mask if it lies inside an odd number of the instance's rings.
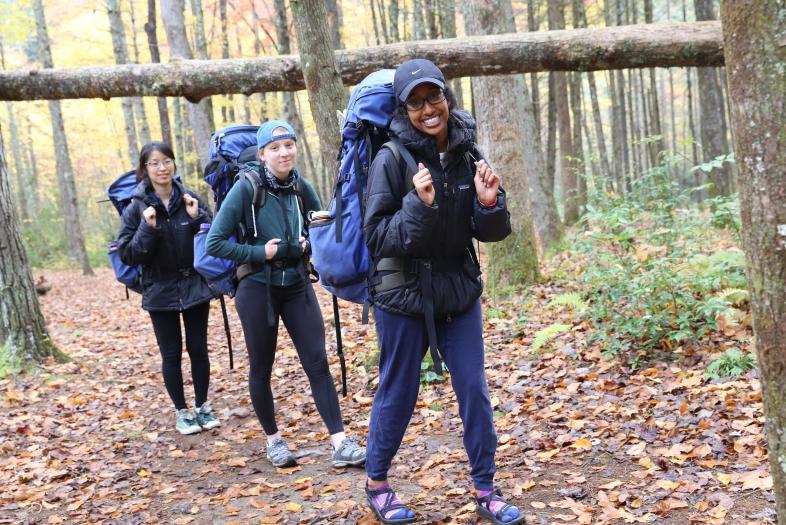
[[[347,105],[347,92],[341,84],[336,68],[325,5],[320,0],[290,0],[303,78],[308,89],[308,103],[317,126],[319,151],[322,159],[322,181],[335,168],[336,155],[341,149],[336,111]]]

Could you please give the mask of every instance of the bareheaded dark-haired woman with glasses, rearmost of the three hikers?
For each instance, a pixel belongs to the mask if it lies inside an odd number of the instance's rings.
[[[195,434],[220,425],[207,403],[207,320],[213,294],[194,270],[194,235],[202,223],[210,222],[210,211],[175,179],[176,171],[175,154],[168,144],[150,142],[142,147],[138,185],[123,211],[117,242],[124,263],[142,265],[142,308],[150,314],[161,351],[164,386],[176,411],[175,429]],[[183,392],[181,316],[191,359],[194,410],[188,408]]]

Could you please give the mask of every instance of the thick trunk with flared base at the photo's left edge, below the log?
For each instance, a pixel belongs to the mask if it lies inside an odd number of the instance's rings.
[[[28,368],[50,357],[64,360],[65,355],[49,339],[41,315],[8,182],[0,133],[0,359]]]

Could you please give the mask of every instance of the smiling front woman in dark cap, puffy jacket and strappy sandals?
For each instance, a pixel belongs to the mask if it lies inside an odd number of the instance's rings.
[[[375,264],[370,295],[380,347],[367,501],[383,523],[415,520],[391,489],[388,470],[415,408],[420,364],[430,347],[435,361],[450,370],[478,514],[496,524],[522,523],[523,514],[494,488],[497,437],[484,371],[483,284],[472,247],[473,238],[494,242],[510,234],[505,193],[475,147],[474,119],[456,108],[437,66],[405,62],[393,86],[399,110],[390,133],[404,151],[397,157],[385,148],[374,158],[363,223]],[[407,153],[414,162],[401,160]]]

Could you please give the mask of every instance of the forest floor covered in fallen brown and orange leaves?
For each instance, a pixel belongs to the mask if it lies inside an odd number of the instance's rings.
[[[273,388],[299,465],[277,470],[249,402],[232,301],[234,370],[217,302],[210,319],[210,401],[222,426],[181,436],[139,297],[126,300],[109,269],[43,274],[52,284],[41,299],[50,333],[72,361],[0,380],[0,523],[375,523],[364,472],[330,466],[283,330]],[[545,307],[558,293],[545,282],[527,297],[485,305],[497,483],[528,522],[774,523],[755,372],[702,379],[710,354],[731,343],[633,369],[602,357],[574,323],[533,353],[534,332],[566,315]],[[320,301],[338,385],[329,297],[320,292]],[[342,318],[350,396],[341,405],[347,432],[365,442],[374,329],[354,306],[342,307]],[[190,380],[186,392],[192,399]],[[419,523],[475,523],[468,470],[451,388],[424,386],[390,472],[394,487]]]

